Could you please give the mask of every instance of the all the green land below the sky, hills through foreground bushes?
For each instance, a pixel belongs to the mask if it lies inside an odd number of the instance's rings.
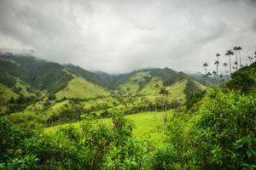
[[[0,65],[1,169],[256,169],[255,63],[207,88],[167,68],[102,79],[34,58],[31,79],[23,59],[1,57],[14,69]]]

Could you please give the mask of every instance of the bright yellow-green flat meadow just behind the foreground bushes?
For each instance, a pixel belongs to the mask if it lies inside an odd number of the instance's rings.
[[[164,129],[166,125],[164,124],[164,117],[167,116],[167,119],[172,116],[172,111],[166,112],[143,112],[138,114],[132,114],[125,116],[131,122],[134,122],[135,128],[133,133],[135,136],[143,139],[147,139],[155,144],[160,144],[165,139]],[[109,126],[112,126],[111,118],[104,118],[101,122],[106,123]],[[55,127],[45,128],[46,133],[55,132],[56,129],[60,127],[80,127],[81,122],[67,123],[63,125],[58,125]]]

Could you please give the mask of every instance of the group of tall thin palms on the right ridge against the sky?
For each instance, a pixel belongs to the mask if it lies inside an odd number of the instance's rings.
[[[214,62],[214,65],[216,65],[216,71],[208,71],[207,72],[207,66],[208,64],[207,63],[204,63],[203,66],[205,67],[205,78],[206,78],[206,82],[207,82],[207,77],[210,77],[213,75],[214,79],[216,79],[216,85],[219,86],[219,78],[222,78],[224,77],[224,79],[222,79],[221,81],[224,82],[225,80],[229,79],[229,77],[231,77],[231,74],[232,74],[232,69],[235,70],[235,71],[238,71],[238,69],[240,69],[241,67],[244,67],[244,65],[241,64],[241,50],[242,48],[240,46],[235,46],[233,49],[228,49],[226,51],[226,53],[224,54],[225,56],[227,56],[229,58],[229,64],[227,63],[223,63],[223,66],[224,66],[224,76],[223,75],[219,75],[218,74],[218,71],[219,71],[219,68],[218,68],[218,65],[220,64],[219,63],[219,57],[221,56],[220,54],[216,54],[216,58],[217,60],[215,60]],[[234,55],[236,56],[236,61],[234,63],[234,65],[231,67],[231,56]],[[256,59],[256,51],[254,52],[254,59]],[[239,57],[239,60],[238,60],[238,57]],[[251,56],[248,56],[248,59],[250,61],[250,64],[252,63],[253,61],[253,57]],[[227,66],[230,66],[230,71],[227,71]],[[247,64],[246,64],[247,66]]]

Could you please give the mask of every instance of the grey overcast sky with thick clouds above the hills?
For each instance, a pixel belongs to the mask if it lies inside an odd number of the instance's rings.
[[[248,62],[255,0],[0,0],[0,48],[90,71],[203,71],[235,45]]]

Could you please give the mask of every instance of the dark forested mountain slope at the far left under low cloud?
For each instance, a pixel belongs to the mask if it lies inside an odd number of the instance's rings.
[[[55,93],[72,79],[65,67],[32,56],[0,54],[0,82],[13,87],[17,78],[39,90]]]

